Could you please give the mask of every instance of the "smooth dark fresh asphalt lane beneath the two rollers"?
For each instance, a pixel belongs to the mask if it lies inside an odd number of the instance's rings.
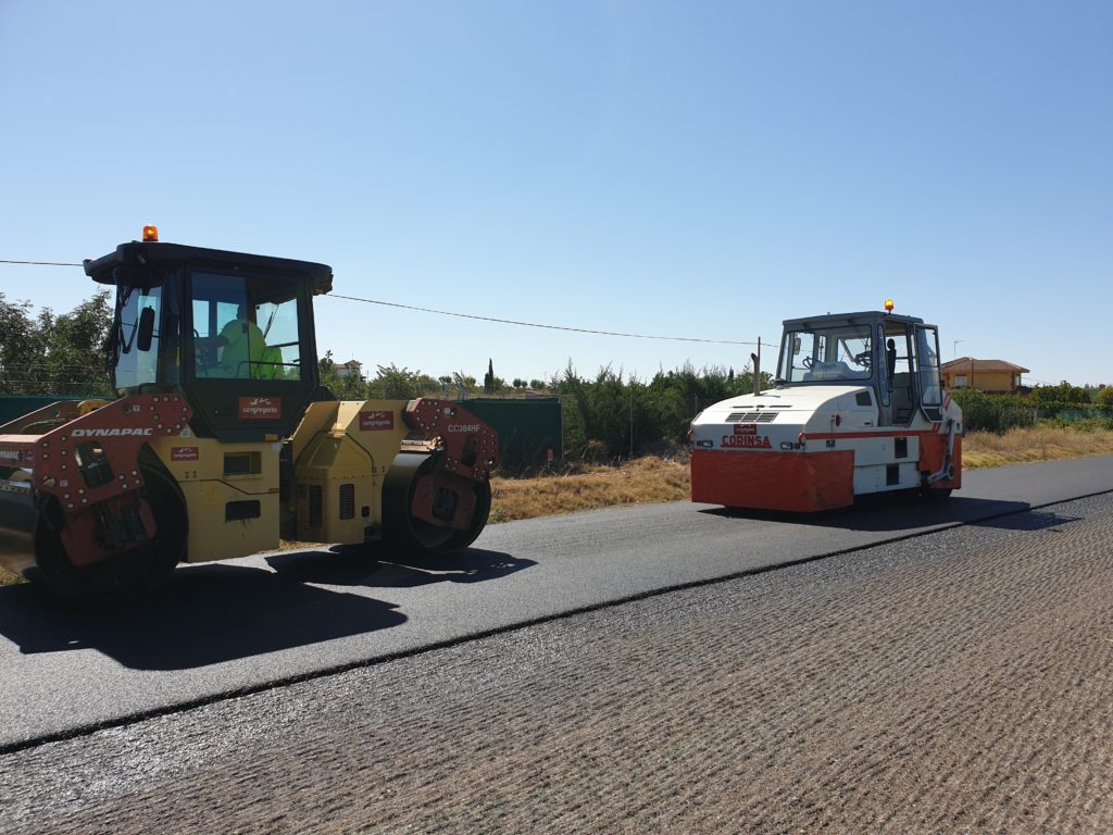
[[[964,473],[949,502],[816,517],[618,508],[492,525],[462,558],[385,549],[178,569],[127,611],[0,589],[0,752],[686,584],[1113,491],[1113,456]]]

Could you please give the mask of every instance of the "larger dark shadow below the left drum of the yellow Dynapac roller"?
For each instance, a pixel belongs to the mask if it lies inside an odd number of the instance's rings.
[[[392,603],[306,586],[260,568],[180,568],[148,598],[66,609],[33,584],[0,588],[0,635],[23,655],[95,649],[125,667],[184,670],[390,629]]]

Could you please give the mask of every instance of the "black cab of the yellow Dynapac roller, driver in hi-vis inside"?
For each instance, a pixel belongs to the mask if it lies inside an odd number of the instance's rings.
[[[198,438],[287,436],[318,386],[324,264],[145,239],[85,263],[116,287],[108,370],[120,396],[180,391]]]

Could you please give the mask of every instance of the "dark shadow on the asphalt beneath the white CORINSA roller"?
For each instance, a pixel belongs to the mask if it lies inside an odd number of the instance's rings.
[[[929,502],[900,494],[878,494],[860,498],[853,508],[826,510],[818,513],[791,513],[742,508],[705,508],[700,512],[728,519],[897,533],[905,530],[912,531],[955,523],[999,524],[999,527],[1012,528],[1014,523],[1008,520],[1031,510],[1031,508],[1032,505],[1026,502],[991,499],[954,497],[945,502]],[[1060,521],[1063,520],[1060,519]]]

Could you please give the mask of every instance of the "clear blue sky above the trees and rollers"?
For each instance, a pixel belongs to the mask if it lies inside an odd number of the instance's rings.
[[[325,262],[345,295],[720,341],[890,296],[944,360],[1113,383],[1107,0],[0,0],[0,258],[154,223]],[[0,264],[10,299],[92,291]],[[327,297],[317,321],[322,353],[434,376],[751,350]]]

